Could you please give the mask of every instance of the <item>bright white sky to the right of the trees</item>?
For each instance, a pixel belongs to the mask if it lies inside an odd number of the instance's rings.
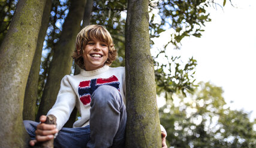
[[[223,0],[217,0],[222,4]],[[181,55],[184,62],[197,60],[195,79],[210,81],[222,87],[231,109],[243,109],[256,118],[256,1],[227,0],[225,7],[209,8],[212,21],[203,27],[201,38],[187,37],[180,50],[168,50]],[[168,37],[161,34],[158,43]],[[173,47],[170,47],[173,48]]]

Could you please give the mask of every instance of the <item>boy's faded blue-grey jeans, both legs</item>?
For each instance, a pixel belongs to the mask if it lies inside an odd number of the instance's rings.
[[[91,96],[90,125],[83,128],[62,128],[55,138],[55,147],[125,147],[127,113],[121,94],[115,87],[103,85]],[[32,139],[37,122],[24,121]]]

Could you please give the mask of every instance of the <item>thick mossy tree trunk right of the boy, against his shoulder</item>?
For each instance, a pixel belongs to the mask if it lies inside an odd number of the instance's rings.
[[[149,47],[148,0],[128,1],[125,30],[126,147],[161,147],[155,75]]]

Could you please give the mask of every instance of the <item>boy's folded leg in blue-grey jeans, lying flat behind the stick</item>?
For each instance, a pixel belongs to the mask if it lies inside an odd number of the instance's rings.
[[[31,139],[35,139],[35,129],[38,122],[23,121],[26,131]],[[55,147],[85,147],[90,140],[89,125],[83,128],[62,128],[54,140]]]

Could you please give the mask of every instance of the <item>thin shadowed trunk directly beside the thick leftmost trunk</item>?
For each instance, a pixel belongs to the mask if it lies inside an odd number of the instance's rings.
[[[26,91],[23,104],[23,120],[35,121],[35,104],[37,103],[37,89],[38,79],[41,64],[41,55],[43,50],[44,37],[46,36],[46,30],[49,24],[50,11],[52,8],[52,0],[46,1],[44,7],[43,18],[41,22],[41,28],[37,39],[37,48],[35,50],[34,59],[28,76],[28,82],[26,84]]]

